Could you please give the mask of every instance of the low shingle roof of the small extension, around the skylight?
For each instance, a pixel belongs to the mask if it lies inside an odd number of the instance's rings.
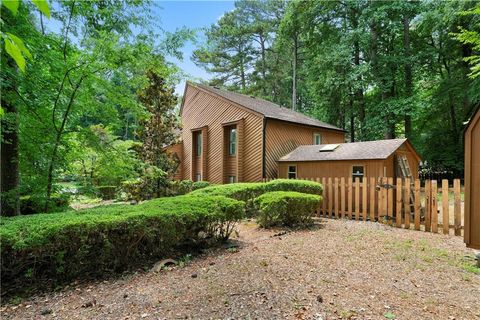
[[[320,152],[326,145],[299,146],[279,161],[328,161],[386,159],[407,139],[340,143],[333,151]]]

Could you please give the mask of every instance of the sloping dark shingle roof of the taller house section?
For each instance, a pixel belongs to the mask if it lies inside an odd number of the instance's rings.
[[[235,93],[231,91],[225,91],[225,90],[217,89],[215,87],[210,87],[204,84],[193,84],[193,85],[203,90],[217,94],[245,108],[261,113],[266,118],[294,122],[294,123],[304,124],[308,126],[314,126],[314,127],[320,127],[320,128],[326,128],[326,129],[332,129],[332,130],[345,131],[334,125],[307,117],[302,113],[293,111],[291,109],[280,107],[278,104],[275,104],[273,102],[270,102],[264,99],[254,98],[254,97],[250,97],[244,94]]]

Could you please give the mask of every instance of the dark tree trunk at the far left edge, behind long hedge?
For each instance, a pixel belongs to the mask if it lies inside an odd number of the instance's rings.
[[[2,98],[5,93],[3,93]],[[18,158],[18,110],[8,101],[1,100],[5,110],[1,121],[1,208],[0,215],[20,214],[19,158]]]

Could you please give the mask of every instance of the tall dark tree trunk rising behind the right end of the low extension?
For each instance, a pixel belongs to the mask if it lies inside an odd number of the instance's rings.
[[[412,96],[413,96],[413,75],[412,75],[412,61],[410,59],[410,18],[405,16],[403,18],[403,50],[404,50],[404,73],[405,73],[405,96],[409,99],[409,106],[405,112],[405,137],[410,138],[412,135]]]

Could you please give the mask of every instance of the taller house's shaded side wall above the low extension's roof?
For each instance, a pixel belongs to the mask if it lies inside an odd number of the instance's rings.
[[[313,134],[320,133],[322,143],[343,143],[341,131],[307,127],[284,121],[268,119],[265,129],[265,174],[267,179],[277,177],[277,160],[300,145],[313,144]],[[313,175],[307,175],[309,177]]]

